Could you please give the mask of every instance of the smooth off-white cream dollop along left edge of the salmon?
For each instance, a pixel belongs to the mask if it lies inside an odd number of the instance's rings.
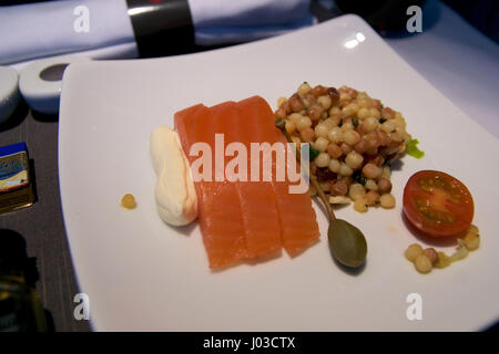
[[[197,197],[179,134],[160,125],[151,134],[150,154],[157,176],[154,197],[161,219],[184,226],[197,217]]]

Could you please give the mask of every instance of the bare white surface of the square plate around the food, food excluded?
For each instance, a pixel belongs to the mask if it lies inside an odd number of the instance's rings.
[[[208,269],[197,225],[176,230],[155,210],[149,136],[173,114],[261,95],[275,108],[303,81],[349,85],[403,112],[426,152],[393,173],[397,207],[338,217],[368,241],[366,267],[352,274],[332,260],[327,221],[306,252],[225,271]],[[499,317],[497,138],[456,108],[361,19],[345,15],[251,44],[190,55],[82,62],[64,74],[59,175],[67,233],[95,330],[337,331],[479,330]],[[404,258],[421,240],[401,219],[401,194],[420,169],[456,176],[470,189],[481,248],[428,275]],[[138,208],[124,210],[131,192]],[[438,249],[451,251],[450,246]],[[407,298],[422,299],[409,321]]]

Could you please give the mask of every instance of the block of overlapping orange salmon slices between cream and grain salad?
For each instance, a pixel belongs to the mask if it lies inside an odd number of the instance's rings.
[[[275,159],[272,181],[263,180],[262,166],[259,181],[249,180],[251,144],[286,143],[274,126],[274,114],[265,100],[253,96],[210,108],[198,104],[175,113],[174,122],[191,168],[198,158],[190,156],[193,144],[211,147],[212,181],[195,181],[198,220],[211,268],[276,253],[283,247],[295,254],[319,237],[309,195],[289,194],[287,180],[275,180]],[[246,180],[230,181],[227,176],[223,181],[215,180],[216,134],[223,134],[224,152],[232,143],[245,148],[247,154],[242,158],[247,163]],[[236,156],[238,153],[223,157],[224,171]]]

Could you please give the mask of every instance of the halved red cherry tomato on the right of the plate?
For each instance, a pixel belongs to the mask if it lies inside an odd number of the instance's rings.
[[[420,231],[436,238],[465,231],[473,219],[473,199],[455,177],[438,170],[414,174],[404,188],[404,214]]]

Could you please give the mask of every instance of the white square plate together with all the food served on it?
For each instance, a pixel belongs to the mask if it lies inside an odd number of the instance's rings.
[[[96,330],[479,330],[499,314],[497,139],[357,17],[71,65],[59,139]]]

